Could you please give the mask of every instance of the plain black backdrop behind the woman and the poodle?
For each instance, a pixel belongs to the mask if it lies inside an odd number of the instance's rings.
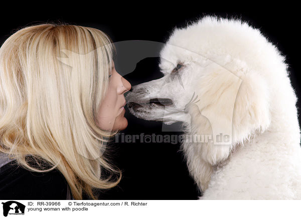
[[[166,42],[175,26],[184,27],[189,21],[195,21],[204,15],[236,17],[248,21],[252,26],[273,42],[286,56],[290,78],[297,96],[300,93],[299,78],[299,36],[297,35],[299,18],[293,12],[202,12],[176,9],[118,10],[99,8],[93,12],[52,9],[49,11],[18,12],[2,16],[0,42],[14,31],[27,25],[44,22],[66,22],[99,28],[106,32],[113,42],[123,40],[152,40]],[[117,50],[118,52],[118,50]],[[130,50],[128,51],[130,54]],[[152,57],[137,63],[133,72],[126,74],[132,85],[160,78],[159,58]],[[122,67],[117,69],[122,71]],[[279,102],[281,103],[281,102]],[[298,105],[300,101],[298,101]],[[299,106],[298,106],[299,108]],[[162,123],[145,121],[129,114],[125,116],[128,127],[125,134],[175,134],[161,132]],[[181,132],[176,132],[180,134]],[[112,161],[123,171],[119,185],[103,191],[100,199],[197,199],[197,186],[189,176],[180,144],[171,143],[111,143]]]

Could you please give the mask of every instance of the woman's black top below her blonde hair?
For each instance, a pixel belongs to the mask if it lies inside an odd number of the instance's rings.
[[[0,199],[65,200],[66,195],[67,181],[57,169],[33,172],[16,160],[0,168]]]

